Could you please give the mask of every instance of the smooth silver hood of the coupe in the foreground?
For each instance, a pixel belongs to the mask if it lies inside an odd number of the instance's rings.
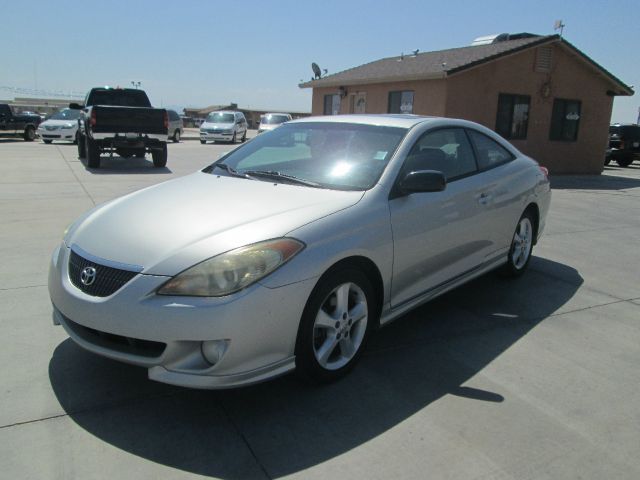
[[[234,248],[285,236],[362,196],[198,172],[96,207],[72,225],[65,243],[96,261],[175,275]]]

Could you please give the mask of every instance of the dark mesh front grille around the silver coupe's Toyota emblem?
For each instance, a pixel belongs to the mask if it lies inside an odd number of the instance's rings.
[[[82,271],[87,267],[95,269],[93,283],[82,283]],[[71,251],[69,257],[69,280],[87,295],[94,297],[108,297],[119,290],[125,283],[137,275],[136,272],[120,270],[92,262]],[[88,282],[89,283],[89,282]]]

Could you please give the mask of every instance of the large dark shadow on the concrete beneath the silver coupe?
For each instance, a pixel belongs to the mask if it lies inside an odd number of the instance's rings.
[[[344,454],[445,395],[499,405],[507,389],[464,384],[582,283],[575,269],[538,257],[515,281],[485,275],[375,332],[358,367],[329,385],[289,375],[229,391],[181,389],[71,340],[56,348],[49,378],[69,417],[121,450],[218,478],[251,476],[239,462],[257,462],[275,478]]]

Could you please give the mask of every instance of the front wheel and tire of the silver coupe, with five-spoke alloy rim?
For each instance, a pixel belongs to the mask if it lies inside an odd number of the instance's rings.
[[[325,383],[348,373],[362,355],[376,322],[373,287],[354,268],[323,276],[302,314],[296,338],[296,371]]]

